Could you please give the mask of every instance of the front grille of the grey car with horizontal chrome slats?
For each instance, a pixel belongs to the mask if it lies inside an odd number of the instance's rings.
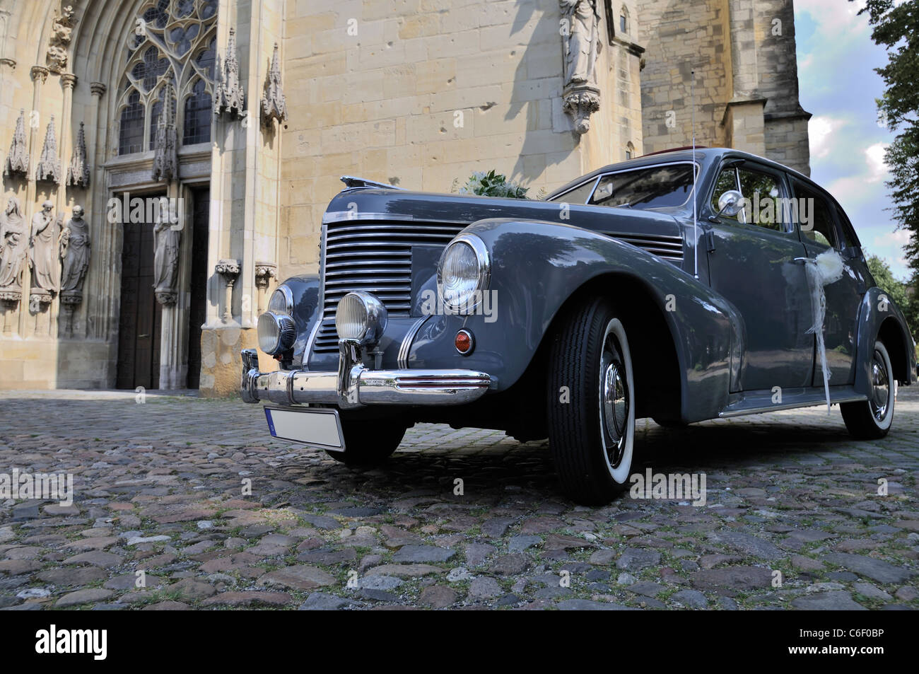
[[[312,350],[338,350],[335,308],[351,291],[376,295],[393,318],[412,310],[412,246],[447,246],[462,223],[327,223],[322,242],[323,321]]]

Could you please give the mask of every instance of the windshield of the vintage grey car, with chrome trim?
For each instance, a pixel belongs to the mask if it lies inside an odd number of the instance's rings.
[[[692,194],[691,164],[646,166],[601,176],[588,204],[637,209],[682,206]],[[551,201],[584,203],[594,181],[574,188]]]

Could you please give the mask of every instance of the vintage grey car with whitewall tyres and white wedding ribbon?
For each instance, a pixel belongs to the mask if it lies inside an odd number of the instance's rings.
[[[563,491],[629,485],[635,419],[681,426],[839,404],[891,428],[913,339],[834,198],[723,148],[606,166],[545,200],[357,178],[323,217],[318,275],[258,319],[242,395],[271,435],[379,463],[417,422],[548,438]]]

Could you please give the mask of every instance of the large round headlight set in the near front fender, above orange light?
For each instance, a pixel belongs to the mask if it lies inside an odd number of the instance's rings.
[[[482,302],[491,278],[485,242],[475,234],[459,234],[444,248],[437,264],[437,294],[451,311],[469,314]]]

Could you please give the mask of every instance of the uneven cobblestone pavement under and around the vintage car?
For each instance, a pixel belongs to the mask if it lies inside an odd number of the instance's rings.
[[[237,401],[4,392],[0,473],[72,473],[74,504],[0,502],[0,607],[916,609],[917,389],[876,442],[835,408],[641,421],[636,471],[704,473],[707,503],[606,508],[492,431],[353,471]]]

